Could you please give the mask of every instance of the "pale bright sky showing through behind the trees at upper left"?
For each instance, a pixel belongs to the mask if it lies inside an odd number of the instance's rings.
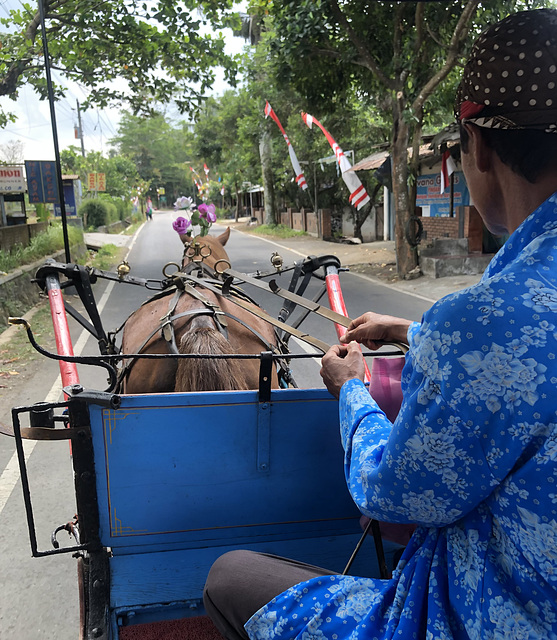
[[[3,3],[0,2],[0,9],[5,12],[6,8],[9,9],[10,5],[18,2],[19,0],[5,0]],[[243,46],[243,40],[233,37],[230,32],[230,36],[227,37],[227,52],[239,53]],[[51,74],[54,82],[68,88],[66,98],[56,102],[55,106],[59,148],[62,150],[74,145],[79,149],[81,142],[75,137],[78,122],[77,102],[83,102],[87,94],[79,85],[68,82],[56,71],[52,71]],[[213,94],[220,95],[227,88],[223,74],[217,70]],[[50,107],[47,100],[39,100],[30,87],[23,87],[17,101],[2,96],[0,106],[17,116],[15,123],[9,123],[4,129],[0,129],[0,151],[3,145],[20,141],[25,160],[55,159]],[[117,135],[119,108],[89,109],[81,112],[81,118],[85,152],[107,153],[110,148],[109,140]]]

